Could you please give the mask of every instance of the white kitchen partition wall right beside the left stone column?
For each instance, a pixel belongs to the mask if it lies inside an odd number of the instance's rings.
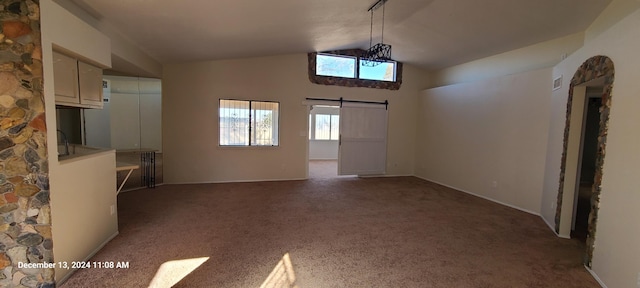
[[[110,65],[111,51],[109,38],[51,0],[41,0],[40,9],[46,122],[47,127],[56,127],[53,46],[102,67]],[[110,206],[116,204],[115,153],[86,162],[60,164],[57,147],[52,145],[56,142],[56,130],[48,129],[54,260],[82,261],[118,231],[117,218],[110,215]],[[113,167],[113,170],[104,167]],[[69,272],[56,269],[56,281]]]

